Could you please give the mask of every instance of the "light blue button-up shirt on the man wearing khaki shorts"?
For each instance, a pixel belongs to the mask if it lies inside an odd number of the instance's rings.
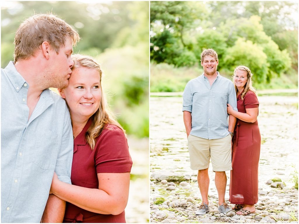
[[[205,139],[227,136],[228,103],[238,111],[234,85],[229,79],[219,75],[219,72],[212,86],[204,74],[190,80],[184,89],[182,110],[191,113],[190,134]]]

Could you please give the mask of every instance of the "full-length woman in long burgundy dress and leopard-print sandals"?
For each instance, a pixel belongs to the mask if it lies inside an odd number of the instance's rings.
[[[237,93],[237,108],[228,104],[227,112],[237,118],[233,137],[231,184],[229,201],[236,204],[237,214],[255,212],[258,200],[258,166],[261,135],[257,123],[257,93],[252,87],[252,73],[246,66],[234,70],[234,86]]]

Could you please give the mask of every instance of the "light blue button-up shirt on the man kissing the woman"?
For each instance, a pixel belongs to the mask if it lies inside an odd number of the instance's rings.
[[[73,133],[65,101],[46,89],[30,116],[29,84],[1,69],[1,222],[39,223],[54,170],[71,183]]]

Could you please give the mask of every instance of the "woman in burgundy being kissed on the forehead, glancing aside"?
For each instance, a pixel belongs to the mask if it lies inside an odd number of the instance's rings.
[[[64,223],[125,223],[132,160],[125,131],[108,113],[102,71],[94,58],[72,55],[69,85],[60,89],[72,120],[72,184],[54,173],[50,193],[67,201]]]

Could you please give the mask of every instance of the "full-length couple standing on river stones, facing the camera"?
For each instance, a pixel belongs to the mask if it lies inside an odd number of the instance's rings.
[[[189,81],[183,93],[183,117],[187,132],[190,167],[198,170],[197,181],[202,204],[195,214],[209,212],[208,168],[215,172],[218,211],[227,214],[225,202],[227,177],[231,170],[229,201],[237,214],[255,212],[258,200],[258,163],[261,136],[257,123],[257,94],[252,73],[237,66],[233,82],[217,72],[218,55],[213,49],[201,54],[204,73]],[[229,119],[228,119],[229,116]],[[228,120],[227,120],[228,119]]]

